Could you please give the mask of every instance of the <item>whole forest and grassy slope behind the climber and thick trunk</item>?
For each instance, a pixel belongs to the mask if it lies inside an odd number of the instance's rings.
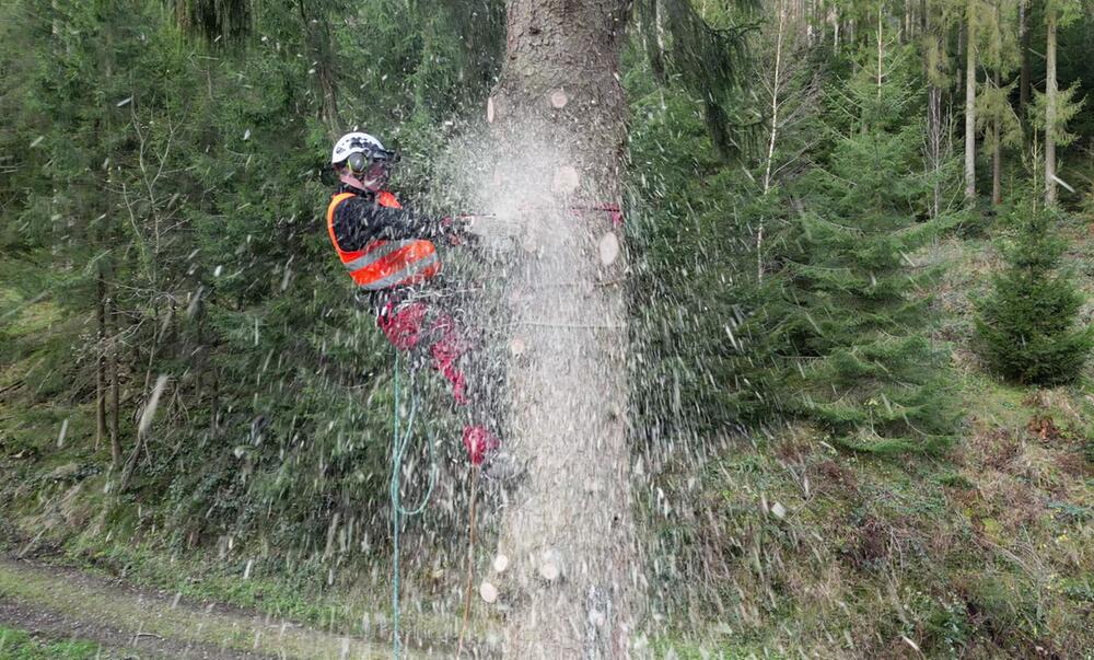
[[[1092,12],[637,3],[619,74],[653,649],[1094,648]],[[403,153],[403,196],[474,212],[445,182],[477,158],[461,138],[504,20],[493,0],[0,9],[8,549],[383,634],[392,355],[327,246],[326,157],[360,125]],[[439,637],[467,503],[442,451],[407,578]]]

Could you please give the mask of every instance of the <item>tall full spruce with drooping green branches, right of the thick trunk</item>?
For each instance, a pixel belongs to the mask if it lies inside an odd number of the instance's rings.
[[[788,393],[843,447],[934,451],[953,415],[928,336],[936,271],[915,255],[947,220],[926,219],[933,182],[921,174],[922,127],[906,115],[905,65],[877,54],[846,83],[850,120],[827,163],[803,180],[800,253],[782,274]]]

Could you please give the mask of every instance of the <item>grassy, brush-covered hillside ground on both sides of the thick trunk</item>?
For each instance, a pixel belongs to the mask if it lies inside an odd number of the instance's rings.
[[[1094,241],[1084,225],[1068,231],[1070,260],[1094,294]],[[952,239],[932,258],[951,265],[938,339],[954,347],[966,410],[961,441],[940,458],[883,460],[790,428],[728,438],[698,475],[684,466],[657,475],[664,499],[648,507],[653,612],[662,615],[653,648],[729,657],[1090,657],[1090,374],[1052,390],[986,374],[969,347],[969,301],[998,257],[982,241]],[[379,567],[370,567],[375,557],[354,557],[327,586],[321,570],[280,570],[277,548],[245,539],[219,553],[179,554],[153,496],[104,493],[109,448],[94,442],[94,387],[71,359],[92,320],[62,317],[37,294],[46,274],[25,259],[0,269],[0,525],[30,541],[20,548],[53,548],[55,558],[165,589],[352,629],[360,611],[345,604],[361,599],[352,576],[382,572],[382,557]],[[1090,305],[1084,313],[1089,321]],[[245,580],[243,558],[254,554],[266,557],[256,566],[261,579]],[[453,598],[457,575],[455,566],[419,570],[411,583]]]

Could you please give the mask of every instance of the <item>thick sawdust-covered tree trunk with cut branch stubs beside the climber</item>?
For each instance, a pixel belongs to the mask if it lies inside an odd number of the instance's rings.
[[[514,350],[507,445],[527,473],[502,514],[507,658],[622,658],[641,580],[627,443],[619,228],[628,0],[514,0],[487,116],[499,208],[524,252],[509,274]]]

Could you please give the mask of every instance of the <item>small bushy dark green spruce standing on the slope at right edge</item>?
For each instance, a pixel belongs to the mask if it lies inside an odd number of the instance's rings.
[[[1094,347],[1094,328],[1075,327],[1083,296],[1058,273],[1064,242],[1054,210],[1021,204],[1011,211],[1016,234],[1004,248],[1006,269],[978,305],[981,352],[993,370],[1020,383],[1074,380]]]

